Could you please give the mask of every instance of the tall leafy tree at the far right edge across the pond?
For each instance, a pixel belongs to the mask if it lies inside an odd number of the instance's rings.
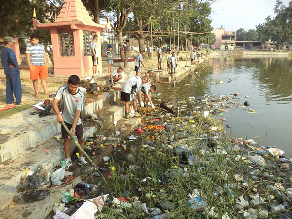
[[[282,1],[277,0],[274,12],[276,17],[272,19],[268,16],[264,24],[257,26],[257,31],[263,42],[270,39],[278,41],[282,50],[285,42],[292,38],[292,1],[286,7]]]

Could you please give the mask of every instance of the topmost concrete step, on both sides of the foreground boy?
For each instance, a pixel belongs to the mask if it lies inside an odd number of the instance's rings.
[[[116,101],[118,95],[118,92],[105,94],[104,98],[85,105],[82,111],[83,117]],[[33,109],[15,114],[13,122],[11,118],[1,119],[1,129],[10,130],[9,133],[0,135],[1,163],[14,158],[29,148],[33,148],[61,130],[55,115],[40,118],[38,115],[29,115],[30,111],[33,111]]]

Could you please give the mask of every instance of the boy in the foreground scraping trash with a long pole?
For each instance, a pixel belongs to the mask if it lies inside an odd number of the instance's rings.
[[[78,88],[80,79],[77,75],[71,75],[68,79],[67,85],[59,87],[56,97],[52,102],[52,108],[57,115],[57,121],[68,127],[72,135],[76,134],[78,143],[84,149],[84,138],[83,138],[83,124],[81,120],[81,111],[83,109],[84,94]],[[58,108],[58,102],[63,99],[63,112],[62,114]],[[65,169],[68,169],[72,165],[70,157],[70,137],[66,130],[61,125],[62,138],[64,139],[64,150],[66,155]],[[78,162],[79,165],[87,164],[83,153],[79,150]]]

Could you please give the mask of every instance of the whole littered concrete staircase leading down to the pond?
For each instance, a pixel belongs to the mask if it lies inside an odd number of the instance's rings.
[[[102,158],[114,149],[112,144],[118,144],[140,122],[140,119],[123,117],[125,115],[124,106],[115,104],[119,97],[118,91],[105,94],[103,98],[85,104],[82,111],[83,117],[96,113],[102,124],[100,127],[94,125],[93,122],[83,121],[84,138],[93,136],[98,131],[96,134],[106,136],[106,142],[109,143],[94,159],[96,164],[99,164]],[[81,180],[79,176],[74,178],[70,185],[61,185],[51,189],[51,195],[44,200],[15,204],[13,208],[7,209],[7,206],[13,201],[13,196],[17,192],[16,186],[19,185],[21,177],[24,177],[26,168],[35,171],[42,163],[51,163],[55,166],[61,160],[65,160],[63,144],[55,138],[56,135],[61,135],[61,126],[57,123],[56,116],[39,118],[38,115],[28,114],[29,111],[32,110],[17,113],[11,119],[1,119],[1,128],[10,130],[6,135],[0,135],[0,163],[5,167],[0,169],[0,217],[4,216],[4,219],[46,218],[53,209],[53,203],[61,201],[61,193],[70,190]],[[114,121],[117,122],[116,125],[114,125]],[[97,130],[97,127],[100,128]],[[115,135],[116,129],[121,130],[119,136]],[[76,146],[71,141],[71,154],[75,149]],[[72,166],[74,167],[74,165]],[[71,171],[79,170],[74,168]]]

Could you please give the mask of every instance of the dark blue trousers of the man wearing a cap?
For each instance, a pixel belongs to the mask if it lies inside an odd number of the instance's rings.
[[[11,104],[14,101],[14,97],[16,100],[16,105],[21,103],[22,98],[22,86],[20,80],[20,74],[14,75],[6,75],[6,102],[7,104]]]

